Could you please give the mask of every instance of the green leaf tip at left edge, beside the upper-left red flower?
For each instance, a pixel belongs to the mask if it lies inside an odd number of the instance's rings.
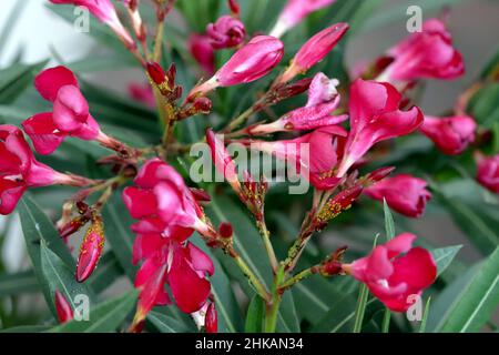
[[[35,64],[17,63],[0,70],[0,103],[12,103],[29,85],[48,61]]]

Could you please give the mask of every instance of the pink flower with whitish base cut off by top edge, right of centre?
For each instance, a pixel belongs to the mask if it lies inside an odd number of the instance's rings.
[[[279,38],[302,22],[309,13],[333,4],[336,0],[288,0],[271,36]]]

